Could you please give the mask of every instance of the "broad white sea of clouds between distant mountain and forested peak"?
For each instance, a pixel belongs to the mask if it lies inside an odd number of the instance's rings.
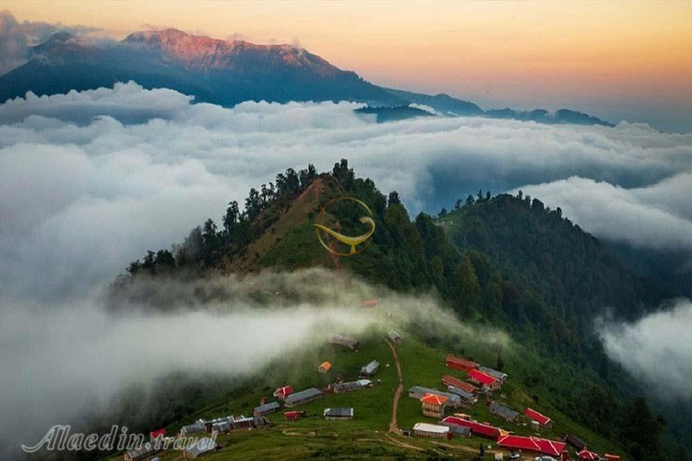
[[[0,104],[0,283],[19,296],[84,293],[218,222],[277,172],[340,158],[412,213],[522,188],[597,236],[689,249],[692,134],[480,117],[376,124],[357,106],[226,109],[134,83]]]

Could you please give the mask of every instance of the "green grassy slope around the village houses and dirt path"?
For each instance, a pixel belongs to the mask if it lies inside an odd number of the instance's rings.
[[[430,459],[435,456],[474,459],[480,444],[491,445],[492,450],[495,450],[494,442],[477,437],[454,438],[447,441],[405,437],[400,433],[389,432],[393,398],[399,385],[399,377],[392,350],[384,335],[383,329],[370,330],[358,338],[361,339],[361,346],[355,352],[324,341],[315,348],[286,355],[249,378],[244,386],[232,391],[226,401],[204,406],[183,420],[172,422],[167,426],[167,431],[175,433],[184,424],[190,424],[198,418],[210,419],[230,414],[249,415],[252,408],[259,404],[260,397],[271,396],[271,391],[278,386],[288,383],[295,389],[310,386],[321,388],[334,380],[339,373],[343,374],[345,379],[355,378],[361,366],[377,359],[381,363],[381,368],[373,379],[376,382],[374,387],[353,393],[328,394],[325,398],[295,407],[307,413],[306,417],[298,421],[285,422],[280,413],[275,413],[269,416],[274,423],[271,428],[221,435],[218,440],[224,448],[206,459]],[[411,429],[417,422],[434,423],[436,420],[421,414],[421,404],[417,399],[408,397],[408,388],[414,385],[441,388],[442,376],[450,374],[464,379],[465,373],[450,370],[445,366],[446,354],[459,353],[459,349],[433,348],[416,339],[410,332],[404,331],[403,335],[403,344],[394,346],[401,361],[404,384],[404,393],[397,408],[397,424],[400,429]],[[491,348],[482,343],[468,341],[466,344],[476,344],[471,350],[467,348],[466,352],[472,352],[478,357],[492,356]],[[588,440],[594,450],[621,452],[621,447],[572,422],[552,406],[536,402],[536,398],[540,397],[530,397],[527,389],[519,382],[518,376],[512,373],[515,368],[514,361],[520,359],[521,355],[519,351],[509,355],[509,380],[501,392],[495,393],[495,399],[518,411],[530,404],[553,417],[554,428],[541,431],[540,435],[543,437],[557,439],[565,433],[574,433]],[[328,375],[320,375],[316,371],[316,367],[323,360],[329,360],[334,364]],[[339,406],[352,406],[354,420],[326,421],[322,418],[324,408]],[[508,431],[533,434],[530,425],[524,421],[512,424],[491,415],[483,399],[473,406],[457,411],[468,413],[476,420],[490,422]],[[448,409],[447,413],[452,414],[453,411]],[[181,459],[181,453],[169,451],[161,455],[161,459]],[[493,458],[491,453],[486,453],[483,459]],[[529,456],[527,459],[533,458]]]

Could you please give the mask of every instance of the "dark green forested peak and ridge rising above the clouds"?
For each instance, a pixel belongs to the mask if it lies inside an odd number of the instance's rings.
[[[307,200],[311,191],[318,193]],[[367,203],[376,227],[367,251],[332,261],[309,221],[338,196]],[[299,202],[308,219],[273,236],[282,216]],[[331,213],[348,226],[348,218],[356,222],[363,210],[341,201]],[[256,245],[262,239],[271,245]],[[412,220],[397,192],[385,196],[372,180],[357,178],[347,160],[330,173],[318,174],[312,165],[288,169],[251,189],[242,210],[230,202],[220,225],[210,218],[181,245],[131,263],[113,284],[113,297],[140,276],[203,277],[241,261],[287,269],[338,264],[393,290],[435,292],[464,321],[502,328],[531,351],[523,368],[513,371],[528,388],[547,388],[567,415],[619,438],[636,460],[685,459],[677,444],[663,450],[665,421],[608,360],[593,328],[606,310],[617,319],[636,319],[671,293],[623,265],[597,238],[563,218],[561,209],[551,210],[537,198],[479,191],[457,200],[452,211],[420,213]],[[498,366],[503,366],[499,353]],[[554,373],[581,381],[577,386]],[[662,451],[675,454],[665,458]]]

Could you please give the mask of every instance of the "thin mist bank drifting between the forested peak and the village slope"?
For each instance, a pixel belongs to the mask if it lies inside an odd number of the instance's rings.
[[[93,292],[69,303],[0,300],[0,456],[33,444],[54,424],[84,424],[130,386],[143,389],[170,373],[244,377],[330,332],[429,326],[464,342],[511,346],[497,330],[479,335],[432,297],[403,296],[327,270],[264,272],[186,283],[151,279],[132,290],[167,297],[163,311],[104,307]],[[171,290],[175,291],[172,293]],[[195,301],[200,290],[212,301]],[[360,307],[377,297],[377,309]],[[122,299],[129,299],[123,296]],[[457,340],[458,341],[458,340]],[[7,453],[5,453],[7,454]]]

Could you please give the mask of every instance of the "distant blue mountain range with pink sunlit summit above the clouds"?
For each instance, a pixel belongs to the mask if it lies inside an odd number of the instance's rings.
[[[32,48],[26,64],[0,75],[0,101],[24,97],[28,91],[37,95],[64,94],[109,88],[129,80],[145,88],[172,88],[194,95],[196,102],[222,106],[260,100],[347,100],[374,108],[420,104],[446,116],[610,126],[597,117],[567,109],[555,113],[512,109],[484,112],[473,102],[445,94],[431,96],[377,86],[303,48],[212,39],[176,29],[134,32],[122,41],[107,44],[93,44],[57,32]],[[421,115],[400,109],[388,112],[382,120]]]

